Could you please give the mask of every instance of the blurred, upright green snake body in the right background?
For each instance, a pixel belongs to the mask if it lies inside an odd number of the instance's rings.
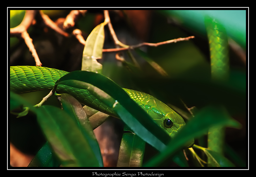
[[[205,25],[210,47],[211,77],[218,82],[229,78],[229,48],[225,27],[218,20],[205,17]],[[212,127],[208,132],[208,148],[223,154],[225,127]],[[215,164],[209,159],[208,166]]]

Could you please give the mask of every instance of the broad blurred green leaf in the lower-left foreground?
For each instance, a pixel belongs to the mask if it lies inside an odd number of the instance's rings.
[[[99,167],[90,144],[77,123],[54,106],[37,108],[37,120],[64,167]]]

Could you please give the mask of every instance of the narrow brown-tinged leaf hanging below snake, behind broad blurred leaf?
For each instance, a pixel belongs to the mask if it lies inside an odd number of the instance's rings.
[[[93,133],[93,129],[89,123],[87,115],[82,107],[82,105],[77,101],[76,98],[69,94],[61,94],[61,103],[63,110],[70,115],[77,122],[77,125],[84,135],[84,138],[88,141],[90,147],[92,148],[100,167],[103,167],[103,161],[100,153],[100,148],[96,137]]]

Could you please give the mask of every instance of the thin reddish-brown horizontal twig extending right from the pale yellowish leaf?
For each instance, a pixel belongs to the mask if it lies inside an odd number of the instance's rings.
[[[176,43],[176,42],[179,42],[179,41],[187,41],[187,40],[193,39],[193,38],[195,38],[195,36],[189,36],[189,37],[186,37],[186,38],[172,39],[172,40],[168,40],[168,41],[164,41],[164,42],[158,42],[158,43],[143,42],[143,43],[140,43],[140,44],[137,44],[137,45],[132,45],[132,46],[129,46],[129,47],[115,48],[115,49],[102,49],[102,52],[120,52],[120,51],[124,51],[124,50],[139,48],[139,47],[142,47],[142,46],[157,47],[157,46],[164,45],[164,44]]]

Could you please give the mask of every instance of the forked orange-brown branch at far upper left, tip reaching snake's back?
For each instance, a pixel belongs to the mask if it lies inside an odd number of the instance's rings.
[[[26,10],[26,13],[22,22],[17,27],[10,29],[10,36],[22,37],[26,45],[28,46],[29,51],[34,57],[36,65],[41,66],[42,63],[40,62],[39,57],[36,53],[36,49],[32,43],[32,39],[29,37],[29,34],[27,32],[27,29],[31,26],[34,20],[35,14],[36,14],[36,10]]]

